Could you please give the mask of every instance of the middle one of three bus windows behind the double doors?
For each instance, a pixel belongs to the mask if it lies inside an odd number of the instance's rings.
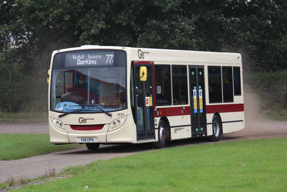
[[[233,102],[232,67],[222,66],[223,102]]]

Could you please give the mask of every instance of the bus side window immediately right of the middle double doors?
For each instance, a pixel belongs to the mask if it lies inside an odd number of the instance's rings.
[[[208,93],[210,103],[222,102],[221,67],[208,67]]]

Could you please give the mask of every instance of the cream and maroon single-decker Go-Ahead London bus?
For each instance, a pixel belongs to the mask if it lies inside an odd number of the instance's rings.
[[[48,72],[53,144],[151,143],[244,128],[237,53],[83,45],[56,50]]]

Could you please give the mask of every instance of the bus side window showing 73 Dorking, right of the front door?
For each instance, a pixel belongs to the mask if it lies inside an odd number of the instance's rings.
[[[156,105],[171,105],[170,65],[154,65]]]

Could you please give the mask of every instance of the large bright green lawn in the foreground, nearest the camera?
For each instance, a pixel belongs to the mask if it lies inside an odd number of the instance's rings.
[[[15,191],[286,191],[286,138],[152,150],[69,167]]]

